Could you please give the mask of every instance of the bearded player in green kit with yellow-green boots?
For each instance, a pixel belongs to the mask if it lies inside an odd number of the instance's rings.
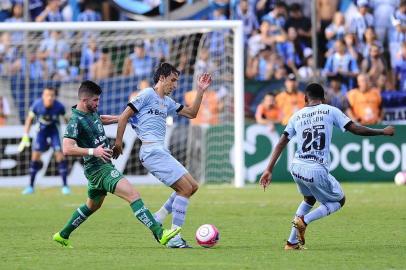
[[[99,115],[102,90],[92,81],[84,81],[79,87],[79,102],[72,108],[63,139],[63,153],[67,156],[82,156],[85,176],[88,180],[88,198],[76,209],[61,231],[53,240],[64,247],[72,247],[69,236],[80,224],[99,209],[110,192],[130,204],[136,218],[148,227],[155,239],[165,245],[180,232],[180,228],[162,229],[151,212],[144,206],[140,194],[111,163],[112,150],[103,125],[117,123],[118,116]]]

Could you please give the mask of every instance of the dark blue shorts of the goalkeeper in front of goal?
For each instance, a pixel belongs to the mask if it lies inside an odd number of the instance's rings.
[[[61,137],[58,129],[40,130],[33,139],[32,150],[45,152],[52,147],[54,151],[61,151]]]

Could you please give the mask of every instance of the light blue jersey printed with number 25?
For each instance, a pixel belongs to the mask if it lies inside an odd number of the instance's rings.
[[[284,131],[289,140],[296,136],[298,149],[293,163],[322,165],[329,171],[333,126],[345,131],[350,123],[351,119],[342,111],[326,104],[297,111]]]

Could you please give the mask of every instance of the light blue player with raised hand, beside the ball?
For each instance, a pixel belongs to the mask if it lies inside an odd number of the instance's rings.
[[[155,219],[163,222],[172,213],[172,228],[182,227],[185,222],[189,198],[197,191],[198,183],[164,146],[166,117],[178,113],[195,118],[203,94],[210,86],[211,75],[202,74],[197,81],[197,95],[192,106],[176,103],[169,95],[177,87],[179,71],[171,64],[162,63],[154,73],[154,87],[142,90],[120,115],[113,158],[122,153],[123,134],[132,117],[132,126],[142,141],[140,160],[148,171],[162,183],[171,187],[171,194],[164,205],[155,213]],[[177,236],[167,244],[170,248],[188,248],[186,241]]]

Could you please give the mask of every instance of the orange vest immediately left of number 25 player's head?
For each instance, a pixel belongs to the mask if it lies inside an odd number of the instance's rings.
[[[297,91],[296,93],[287,93],[283,91],[275,97],[276,106],[282,112],[282,125],[287,125],[289,118],[298,110],[304,107],[304,94]]]

